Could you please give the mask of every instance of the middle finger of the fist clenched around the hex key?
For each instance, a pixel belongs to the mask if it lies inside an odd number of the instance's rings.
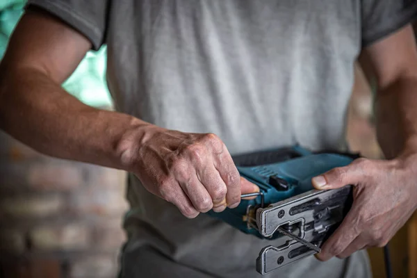
[[[218,170],[212,164],[206,165],[205,167],[198,167],[196,171],[197,178],[204,188],[206,188],[208,195],[210,195],[212,199],[213,211],[224,211],[227,207],[227,186],[222,177],[220,177]]]

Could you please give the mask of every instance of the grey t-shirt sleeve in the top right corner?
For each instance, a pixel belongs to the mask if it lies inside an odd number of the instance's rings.
[[[362,47],[416,19],[417,0],[362,0]]]

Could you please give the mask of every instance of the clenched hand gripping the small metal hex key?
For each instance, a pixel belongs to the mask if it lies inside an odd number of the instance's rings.
[[[212,208],[235,208],[241,194],[259,191],[240,177],[226,146],[212,133],[147,125],[126,134],[122,161],[150,193],[177,206],[187,218]]]

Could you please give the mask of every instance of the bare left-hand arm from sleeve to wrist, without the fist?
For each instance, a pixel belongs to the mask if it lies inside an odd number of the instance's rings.
[[[90,47],[58,19],[24,15],[0,64],[0,128],[44,154],[123,168],[118,142],[145,123],[87,106],[60,86]]]

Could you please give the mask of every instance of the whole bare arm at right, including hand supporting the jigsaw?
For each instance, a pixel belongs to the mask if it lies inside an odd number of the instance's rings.
[[[417,51],[411,26],[364,49],[366,75],[377,85],[377,139],[386,159],[360,158],[313,179],[318,189],[354,186],[354,202],[318,259],[383,247],[417,208]]]

